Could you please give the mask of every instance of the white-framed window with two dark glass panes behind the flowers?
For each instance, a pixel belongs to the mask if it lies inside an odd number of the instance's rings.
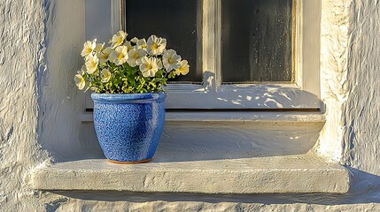
[[[113,32],[166,37],[169,48],[189,59],[191,74],[167,87],[168,109],[322,108],[318,1],[111,3]]]

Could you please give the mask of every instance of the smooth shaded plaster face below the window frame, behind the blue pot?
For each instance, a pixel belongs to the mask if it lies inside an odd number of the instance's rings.
[[[151,163],[240,159],[280,155],[304,155],[314,148],[323,123],[167,123]],[[92,123],[81,125],[80,155],[58,161],[103,159]]]

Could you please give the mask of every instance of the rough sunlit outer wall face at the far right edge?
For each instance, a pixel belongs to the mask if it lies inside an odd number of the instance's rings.
[[[380,175],[380,1],[353,1],[350,13],[343,161]]]

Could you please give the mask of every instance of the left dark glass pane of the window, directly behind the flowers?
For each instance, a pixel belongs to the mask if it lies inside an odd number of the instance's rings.
[[[200,0],[126,0],[128,38],[151,34],[167,39],[167,49],[174,49],[190,64],[190,72],[176,81],[201,82]],[[199,24],[198,24],[199,22]]]

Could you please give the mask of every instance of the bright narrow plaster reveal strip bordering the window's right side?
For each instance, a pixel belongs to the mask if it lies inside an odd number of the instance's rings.
[[[339,161],[343,151],[343,104],[349,90],[347,75],[349,7],[351,1],[322,1],[321,95],[326,105],[326,124],[318,152]]]

